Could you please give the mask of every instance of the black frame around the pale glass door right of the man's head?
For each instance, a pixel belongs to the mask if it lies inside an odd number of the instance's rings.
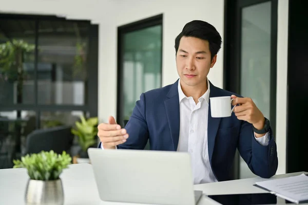
[[[223,88],[240,94],[241,91],[241,20],[242,8],[271,2],[271,82],[270,111],[271,128],[276,131],[276,82],[277,82],[277,23],[278,0],[225,0],[224,1],[224,53]],[[236,152],[234,179],[240,177],[240,156]]]

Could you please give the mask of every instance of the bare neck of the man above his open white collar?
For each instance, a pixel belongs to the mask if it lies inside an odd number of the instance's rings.
[[[181,88],[183,90],[183,93],[187,97],[192,97],[196,104],[198,103],[198,100],[203,94],[205,94],[207,90],[207,80],[204,81],[204,83],[200,83],[195,86],[189,86],[186,85],[184,82],[180,80]]]

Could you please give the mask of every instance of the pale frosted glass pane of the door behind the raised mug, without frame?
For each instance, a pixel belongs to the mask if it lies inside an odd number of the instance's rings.
[[[271,100],[271,6],[264,2],[242,8],[240,94],[252,98],[263,115],[269,116]],[[275,60],[275,59],[273,59]],[[240,158],[240,178],[255,176]]]

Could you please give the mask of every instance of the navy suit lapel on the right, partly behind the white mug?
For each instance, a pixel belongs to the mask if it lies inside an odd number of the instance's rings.
[[[215,87],[213,84],[210,84],[210,92],[209,92],[209,97],[219,97],[220,92],[219,88]],[[220,123],[221,118],[212,118],[211,117],[211,112],[210,112],[210,100],[208,104],[208,118],[207,118],[207,143],[208,143],[208,157],[209,161],[211,162],[211,158],[213,156],[214,152],[214,146],[215,146],[215,139],[216,139],[216,134],[218,131],[219,123]]]

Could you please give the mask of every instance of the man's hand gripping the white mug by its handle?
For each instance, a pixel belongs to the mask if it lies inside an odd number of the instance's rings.
[[[232,105],[237,105],[233,111],[239,120],[247,121],[257,129],[264,127],[264,116],[251,98],[238,98],[235,95],[232,95],[231,98],[234,99]],[[256,137],[262,136],[256,135]]]

